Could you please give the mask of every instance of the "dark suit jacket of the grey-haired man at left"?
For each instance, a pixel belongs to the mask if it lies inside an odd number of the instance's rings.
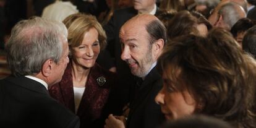
[[[79,118],[27,77],[0,80],[0,127],[79,127]]]

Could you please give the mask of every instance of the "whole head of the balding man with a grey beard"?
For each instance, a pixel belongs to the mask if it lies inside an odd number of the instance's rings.
[[[154,15],[140,14],[128,20],[119,33],[121,59],[132,74],[145,77],[160,56],[166,42],[166,28]]]

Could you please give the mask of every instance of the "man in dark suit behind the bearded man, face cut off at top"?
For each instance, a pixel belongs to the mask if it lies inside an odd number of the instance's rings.
[[[109,20],[109,22],[103,27],[106,31],[106,35],[108,37],[107,42],[108,46],[106,48],[106,51],[108,51],[111,56],[113,56],[114,60],[113,64],[116,67],[117,72],[117,80],[119,80],[118,84],[116,85],[122,85],[113,87],[112,90],[115,93],[114,95],[117,95],[119,105],[122,106],[126,104],[130,98],[130,84],[134,83],[134,77],[130,73],[130,69],[127,66],[125,61],[122,61],[120,58],[121,56],[121,45],[120,45],[120,39],[119,39],[119,30],[124,25],[124,23],[129,20],[130,18],[134,17],[137,14],[152,14],[155,15],[157,12],[157,7],[155,4],[156,0],[133,0],[134,7],[129,7],[126,9],[120,9],[114,12],[113,17]],[[105,52],[106,52],[105,51]],[[117,90],[117,92],[115,92]],[[116,96],[114,96],[116,97]],[[120,110],[120,108],[115,108],[116,110]],[[118,112],[117,112],[118,113]]]

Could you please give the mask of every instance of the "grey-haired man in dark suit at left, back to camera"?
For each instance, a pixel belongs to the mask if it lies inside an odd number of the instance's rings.
[[[6,51],[12,75],[0,80],[0,127],[79,127],[79,118],[47,91],[69,62],[65,25],[40,17],[22,20]]]

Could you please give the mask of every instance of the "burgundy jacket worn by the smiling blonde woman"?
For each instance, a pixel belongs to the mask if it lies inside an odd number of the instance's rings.
[[[100,85],[98,78],[104,77],[106,82]],[[102,69],[98,64],[90,69],[77,116],[80,127],[103,127],[103,108],[108,100],[109,90],[114,85],[115,74]],[[49,88],[50,95],[75,113],[74,88],[72,81],[72,61],[69,62],[61,82]]]

